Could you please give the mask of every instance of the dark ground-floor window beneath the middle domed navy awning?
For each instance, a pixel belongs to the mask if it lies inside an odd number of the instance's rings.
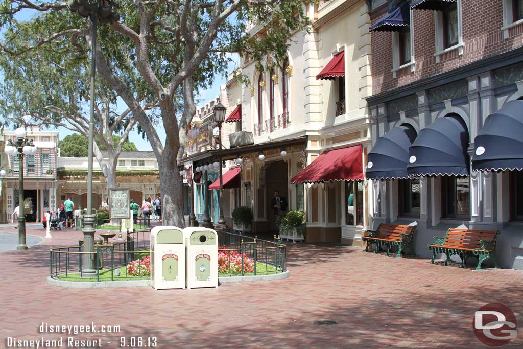
[[[442,216],[470,219],[470,183],[468,176],[441,177]]]

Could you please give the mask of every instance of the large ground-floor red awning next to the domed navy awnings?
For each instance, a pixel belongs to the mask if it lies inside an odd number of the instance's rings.
[[[361,145],[355,145],[325,151],[302,172],[294,176],[291,184],[363,179],[362,149]]]

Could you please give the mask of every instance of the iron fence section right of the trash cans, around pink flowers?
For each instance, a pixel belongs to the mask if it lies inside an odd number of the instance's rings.
[[[267,275],[286,271],[285,245],[279,239],[256,237],[218,231],[219,275]]]

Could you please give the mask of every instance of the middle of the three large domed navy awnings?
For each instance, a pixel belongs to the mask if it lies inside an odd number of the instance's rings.
[[[469,132],[459,117],[439,118],[419,132],[409,149],[410,177],[469,175]]]

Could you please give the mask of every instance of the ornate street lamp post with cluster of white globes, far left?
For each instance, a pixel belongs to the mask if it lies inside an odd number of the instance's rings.
[[[19,127],[15,130],[16,140],[9,139],[4,148],[7,155],[18,156],[18,246],[17,250],[27,250],[26,245],[26,217],[24,215],[24,155],[35,155],[37,152],[32,139],[26,139],[26,129]],[[3,172],[5,175],[5,171]]]

